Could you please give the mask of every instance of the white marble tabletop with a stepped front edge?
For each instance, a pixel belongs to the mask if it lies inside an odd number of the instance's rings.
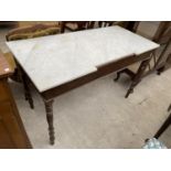
[[[120,26],[11,41],[7,45],[40,92],[159,46]]]

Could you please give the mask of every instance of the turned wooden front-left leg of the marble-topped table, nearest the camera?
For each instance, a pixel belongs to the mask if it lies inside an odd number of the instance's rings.
[[[51,145],[54,145],[55,141],[54,126],[53,126],[53,101],[54,101],[53,99],[44,100]]]

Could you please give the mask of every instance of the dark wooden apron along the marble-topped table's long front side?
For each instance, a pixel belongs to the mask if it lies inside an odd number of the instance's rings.
[[[146,52],[139,56],[137,55],[131,55],[130,57],[125,57],[122,60],[119,60],[117,62],[114,62],[114,63],[109,63],[109,64],[106,64],[106,65],[103,65],[103,66],[99,66],[97,68],[97,72],[94,72],[94,73],[90,73],[88,75],[85,75],[83,77],[79,77],[77,79],[74,79],[70,83],[66,83],[66,84],[63,84],[61,86],[57,86],[57,87],[54,87],[54,88],[51,88],[51,89],[47,89],[43,93],[40,93],[40,95],[43,97],[43,99],[52,99],[58,95],[62,95],[71,89],[74,89],[76,87],[79,87],[84,84],[87,84],[96,78],[99,78],[101,76],[105,76],[107,74],[110,74],[113,72],[116,72],[116,71],[119,71],[119,70],[122,70],[136,62],[140,62],[140,61],[145,61],[147,58],[150,58],[151,57],[151,53],[153,51],[149,51],[149,52]]]

